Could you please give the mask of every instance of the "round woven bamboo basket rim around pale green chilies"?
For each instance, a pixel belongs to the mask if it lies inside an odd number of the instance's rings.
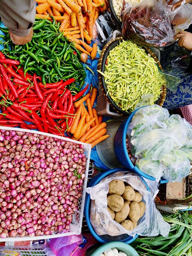
[[[121,40],[123,40],[124,38],[121,36],[121,37],[117,37],[113,40],[110,40],[104,47],[103,47],[103,50],[100,54],[100,58],[99,58],[99,61],[98,61],[98,66],[97,66],[97,69],[104,72],[104,67],[105,67],[105,61],[106,61],[106,58],[108,56],[108,52],[110,49],[112,49],[114,46],[116,46],[118,44],[118,42],[120,42]],[[126,40],[126,39],[125,39]],[[117,43],[115,44],[114,42]],[[115,44],[115,45],[114,45]],[[154,58],[154,60],[156,61],[158,67],[160,70],[163,70],[163,68],[161,67],[161,64],[158,60],[158,58],[155,56],[155,54],[150,50],[150,48],[148,47],[145,47],[146,51]],[[114,109],[115,112],[117,112],[118,114],[120,114],[121,116],[129,116],[130,113],[129,112],[126,112],[126,111],[123,111],[121,110],[120,108],[118,108],[118,106],[116,105],[116,103],[113,102],[113,100],[111,99],[111,97],[109,96],[109,94],[106,96],[107,94],[107,90],[106,90],[106,86],[105,86],[105,79],[104,77],[98,73],[98,77],[99,77],[99,84],[100,84],[100,88],[102,89],[103,91],[103,94],[106,98],[106,100],[109,102],[110,106]],[[165,81],[165,84],[162,86],[162,90],[161,90],[161,94],[159,96],[159,100],[156,102],[156,104],[158,104],[159,106],[163,106],[163,103],[165,101],[165,97],[166,97],[166,92],[167,92],[167,88],[166,88],[166,81]]]

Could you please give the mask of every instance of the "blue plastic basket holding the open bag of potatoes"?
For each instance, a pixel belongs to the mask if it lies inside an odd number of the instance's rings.
[[[109,170],[103,173],[100,173],[98,175],[96,175],[88,184],[87,187],[91,187],[91,186],[95,186],[96,184],[98,184],[101,180],[103,180],[103,178],[107,177],[108,175],[115,173],[117,171],[128,171],[125,168],[116,168],[113,170]],[[141,176],[140,176],[141,177]],[[150,191],[149,187],[147,186],[147,183],[145,182],[145,180],[141,177],[142,182],[145,184],[146,188],[148,191]],[[96,240],[98,240],[100,243],[104,244],[104,243],[108,243],[108,242],[112,242],[112,241],[119,241],[119,242],[124,242],[126,244],[130,244],[132,243],[137,237],[138,235],[136,235],[134,238],[132,236],[129,236],[128,234],[123,234],[123,235],[119,235],[119,236],[109,236],[109,235],[102,235],[99,236],[96,231],[94,230],[91,221],[90,221],[90,202],[91,202],[91,198],[90,195],[86,193],[86,198],[85,198],[85,208],[84,208],[84,215],[85,215],[85,219],[87,221],[87,226],[91,232],[91,234],[94,236],[94,238],[96,238]]]

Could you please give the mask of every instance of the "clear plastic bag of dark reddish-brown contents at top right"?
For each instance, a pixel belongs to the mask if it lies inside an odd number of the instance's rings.
[[[122,11],[123,36],[131,38],[138,45],[148,47],[171,45],[175,41],[174,35],[190,25],[188,14],[187,20],[183,19],[182,23],[177,18],[177,30],[172,29],[171,23],[176,19],[177,13],[185,9],[183,5],[184,3],[171,11],[171,6],[167,6],[165,0],[143,0],[133,7],[125,4]]]

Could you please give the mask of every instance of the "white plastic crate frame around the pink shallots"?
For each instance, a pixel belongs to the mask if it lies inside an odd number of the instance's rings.
[[[0,130],[15,130],[15,131],[22,131],[22,132],[30,132],[30,133],[36,133],[44,136],[49,136],[49,137],[55,137],[58,139],[62,139],[65,141],[71,141],[77,144],[82,144],[84,146],[85,150],[85,156],[87,158],[87,165],[86,165],[86,171],[85,171],[85,180],[84,180],[84,185],[83,185],[83,190],[82,190],[82,197],[78,201],[77,205],[77,211],[73,215],[73,220],[72,223],[70,224],[70,229],[69,230],[64,230],[62,232],[59,231],[53,231],[53,233],[49,236],[16,236],[16,237],[8,237],[8,238],[0,238],[0,242],[9,242],[9,241],[27,241],[27,240],[40,240],[40,239],[49,239],[49,238],[56,238],[60,236],[71,236],[71,235],[79,235],[81,233],[81,228],[82,228],[82,222],[83,222],[83,210],[84,210],[84,205],[85,205],[85,194],[86,194],[86,187],[87,187],[87,177],[88,177],[88,171],[89,171],[89,162],[90,162],[90,154],[91,154],[91,144],[83,143],[80,141],[75,141],[73,139],[68,139],[65,137],[61,137],[58,135],[53,135],[50,133],[45,133],[45,132],[39,132],[35,130],[27,130],[27,129],[20,129],[20,128],[12,128],[12,127],[4,127],[1,126]]]

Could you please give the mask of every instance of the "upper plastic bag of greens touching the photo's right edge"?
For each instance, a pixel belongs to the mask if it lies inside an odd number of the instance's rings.
[[[181,141],[182,145],[192,138],[191,124],[180,115],[171,115],[165,121],[165,124],[167,124],[167,128],[177,132],[177,138]]]

